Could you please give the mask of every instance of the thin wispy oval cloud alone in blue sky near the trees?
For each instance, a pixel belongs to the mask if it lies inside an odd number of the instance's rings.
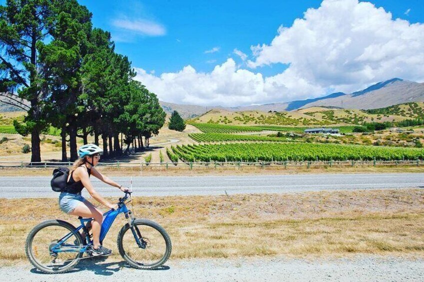
[[[129,30],[141,35],[161,36],[166,34],[166,29],[161,24],[146,19],[118,18],[112,20],[112,25],[124,30]]]

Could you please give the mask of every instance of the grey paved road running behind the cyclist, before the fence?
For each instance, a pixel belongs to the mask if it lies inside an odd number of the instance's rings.
[[[129,177],[112,177],[129,186]],[[93,178],[101,195],[120,191]],[[424,187],[424,174],[317,174],[263,176],[133,177],[136,196],[219,195],[236,193],[292,193],[320,190]],[[57,197],[50,177],[0,177],[0,198]],[[85,192],[85,190],[84,190]],[[86,193],[86,192],[85,192]],[[86,194],[85,194],[86,195]]]

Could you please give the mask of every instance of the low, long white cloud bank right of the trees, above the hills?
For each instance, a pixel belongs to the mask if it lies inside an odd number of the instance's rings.
[[[144,69],[136,68],[136,80],[141,81],[160,100],[174,103],[198,105],[250,105],[262,104],[282,97],[293,99],[322,91],[293,77],[290,72],[263,78],[260,73],[238,69],[232,58],[216,65],[209,73],[197,72],[187,65],[176,73],[155,76]],[[284,84],[281,81],[286,81]],[[289,90],[286,85],[297,88]]]

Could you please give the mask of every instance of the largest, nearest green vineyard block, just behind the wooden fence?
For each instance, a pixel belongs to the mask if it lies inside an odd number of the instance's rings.
[[[415,148],[311,143],[236,143],[177,145],[172,152],[185,162],[231,161],[344,161],[417,160],[424,150]]]

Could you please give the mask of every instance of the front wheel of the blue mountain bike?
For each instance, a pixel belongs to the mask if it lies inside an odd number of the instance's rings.
[[[157,223],[144,219],[134,220],[132,229],[125,224],[118,234],[117,243],[122,258],[132,267],[144,270],[163,265],[172,250],[166,231]]]

